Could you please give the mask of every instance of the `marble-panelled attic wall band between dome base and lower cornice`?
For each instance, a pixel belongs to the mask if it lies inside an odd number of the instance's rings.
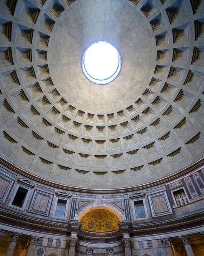
[[[62,233],[67,232],[68,221],[77,221],[82,212],[94,206],[110,207],[117,212],[122,221],[131,221],[133,233],[136,232],[134,226],[138,224],[141,226],[140,231],[144,233],[147,230],[146,224],[155,224],[157,221],[164,223],[172,218],[176,218],[179,222],[181,216],[200,214],[204,210],[204,168],[202,166],[160,186],[112,194],[74,192],[63,187],[59,189],[31,180],[3,165],[0,167],[0,182],[0,217],[3,217],[5,212],[9,212],[7,221],[9,219],[17,221],[20,226],[24,221],[32,225],[31,219],[34,218],[43,228],[52,227],[51,223],[53,223],[54,230]],[[28,193],[23,205],[16,207],[12,201],[19,187],[27,189]],[[186,197],[182,205],[178,202],[179,198],[175,197],[177,191],[182,191]],[[58,199],[67,202],[64,218],[55,216]],[[143,202],[146,218],[141,219],[136,216],[135,202],[137,201]],[[17,215],[26,218],[20,219]],[[2,219],[2,222],[4,221]],[[50,224],[45,225],[42,221]],[[196,225],[199,226],[199,224]],[[40,226],[37,230],[40,230]],[[175,224],[170,224],[170,228],[175,227]]]

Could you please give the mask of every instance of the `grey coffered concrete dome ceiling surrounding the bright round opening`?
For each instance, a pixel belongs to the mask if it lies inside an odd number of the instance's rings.
[[[56,183],[101,189],[151,182],[202,157],[200,2],[1,1],[2,156]],[[121,55],[109,84],[82,71],[96,41]]]

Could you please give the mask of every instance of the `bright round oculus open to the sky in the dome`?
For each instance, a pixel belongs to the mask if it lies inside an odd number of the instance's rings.
[[[85,76],[95,84],[108,84],[120,71],[121,58],[116,48],[105,41],[91,44],[82,58]]]

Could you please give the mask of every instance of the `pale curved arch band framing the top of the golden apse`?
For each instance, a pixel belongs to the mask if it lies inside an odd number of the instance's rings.
[[[94,209],[106,209],[110,212],[113,212],[120,221],[126,220],[126,218],[124,217],[124,213],[122,211],[120,211],[119,209],[117,209],[116,207],[114,207],[112,204],[87,204],[85,207],[83,207],[77,214],[77,216],[75,216],[76,220],[81,220],[82,217],[89,211],[94,210]]]

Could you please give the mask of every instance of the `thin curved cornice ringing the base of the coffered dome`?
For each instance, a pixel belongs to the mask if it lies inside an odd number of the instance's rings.
[[[82,188],[82,187],[77,187],[77,186],[70,186],[70,185],[65,185],[65,184],[61,184],[61,183],[56,183],[54,181],[47,180],[45,178],[34,175],[34,174],[26,171],[23,168],[20,168],[19,166],[15,165],[14,163],[11,163],[8,159],[3,157],[2,155],[0,155],[0,163],[2,163],[4,166],[10,168],[11,170],[14,170],[15,172],[17,172],[21,175],[24,175],[25,177],[31,178],[32,180],[35,180],[37,182],[46,184],[48,186],[53,186],[53,187],[59,188],[59,189],[70,190],[70,191],[73,191],[73,192],[86,192],[86,193],[89,192],[89,193],[95,193],[95,194],[99,194],[99,193],[106,194],[107,193],[108,194],[108,193],[133,192],[135,190],[147,189],[147,188],[150,188],[152,186],[159,186],[161,184],[167,183],[170,180],[181,177],[181,175],[185,175],[188,172],[190,172],[190,171],[192,171],[196,168],[199,168],[201,165],[204,164],[204,156],[199,158],[195,162],[191,163],[190,165],[186,166],[185,168],[182,168],[178,172],[175,172],[175,173],[173,173],[171,175],[168,175],[166,177],[163,177],[161,179],[154,180],[154,181],[148,182],[148,183],[143,183],[143,184],[136,185],[136,186],[120,187],[120,188],[112,188],[112,189]]]

